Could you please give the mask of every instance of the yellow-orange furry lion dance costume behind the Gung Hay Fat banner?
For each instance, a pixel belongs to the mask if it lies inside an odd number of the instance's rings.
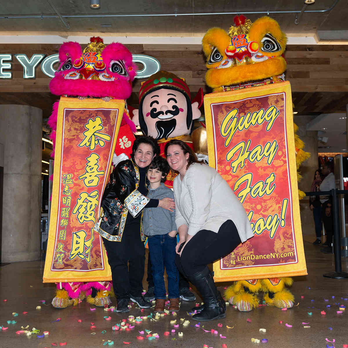
[[[286,35],[279,24],[270,17],[261,17],[252,23],[244,16],[234,18],[235,25],[228,33],[220,28],[209,29],[203,37],[203,51],[207,58],[206,84],[213,92],[227,92],[252,88],[285,80],[286,61],[282,56]],[[295,132],[297,126],[294,126]],[[304,144],[295,134],[297,169],[309,157],[302,150]],[[298,173],[298,180],[301,176]],[[300,193],[300,199],[303,193]],[[292,278],[238,280],[224,294],[240,311],[258,307],[257,293],[264,293],[264,301],[278,308],[291,308],[293,294],[286,289]]]

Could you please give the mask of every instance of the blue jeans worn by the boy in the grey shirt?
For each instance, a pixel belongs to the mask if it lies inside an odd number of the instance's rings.
[[[149,255],[152,264],[152,277],[155,284],[155,298],[165,299],[164,268],[168,276],[168,298],[179,298],[179,272],[175,265],[176,236],[168,234],[148,236]]]

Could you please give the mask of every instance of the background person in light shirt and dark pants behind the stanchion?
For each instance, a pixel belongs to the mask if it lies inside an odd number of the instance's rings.
[[[322,174],[324,180],[319,186],[320,191],[330,191],[335,188],[335,176],[332,173],[332,163],[325,162],[322,166]],[[326,242],[323,243],[325,248],[320,251],[332,254],[332,233],[333,233],[333,220],[332,220],[332,196],[320,196],[320,202],[322,204],[322,219],[326,232]]]

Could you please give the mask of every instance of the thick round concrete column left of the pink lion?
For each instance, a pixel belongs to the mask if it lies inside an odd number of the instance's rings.
[[[42,110],[0,105],[4,144],[2,262],[40,258]]]

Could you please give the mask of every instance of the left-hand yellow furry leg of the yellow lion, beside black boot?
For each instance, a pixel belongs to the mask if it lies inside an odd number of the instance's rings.
[[[226,289],[225,298],[237,306],[239,311],[248,312],[258,307],[259,300],[256,293],[260,289],[261,284],[258,279],[238,280]]]

